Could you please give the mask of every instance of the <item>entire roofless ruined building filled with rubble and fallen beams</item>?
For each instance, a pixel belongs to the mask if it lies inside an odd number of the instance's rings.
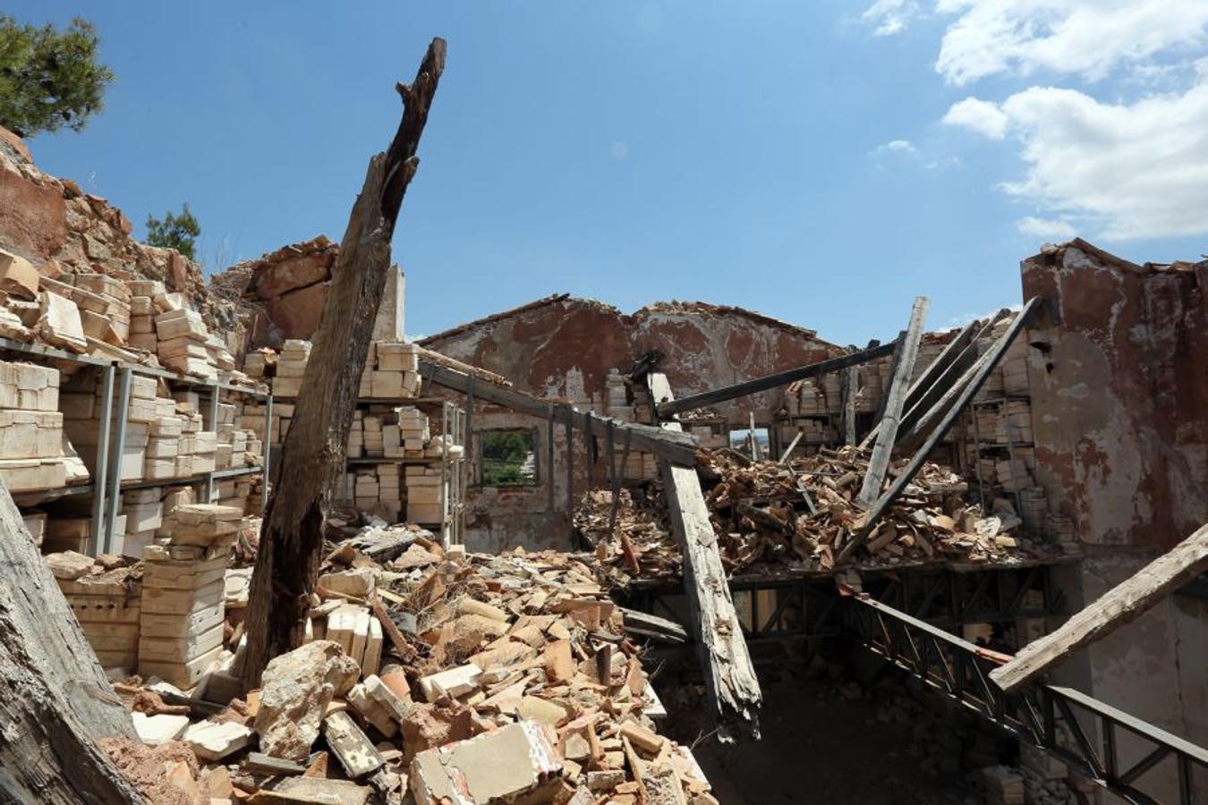
[[[914,801],[1208,795],[1208,262],[1046,245],[1001,313],[904,303],[866,346],[567,294],[408,343],[395,269],[304,642],[248,692],[339,247],[207,284],[0,134],[0,555],[45,554],[46,617],[80,624],[52,652],[95,654],[66,672],[120,694],[92,714],[144,795],[707,805],[792,795],[798,763],[884,763]],[[826,795],[898,783],[867,784]]]

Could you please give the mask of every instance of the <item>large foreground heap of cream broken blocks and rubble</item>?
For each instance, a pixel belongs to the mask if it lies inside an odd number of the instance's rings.
[[[574,556],[446,553],[416,526],[366,529],[331,550],[312,605],[308,642],[246,696],[230,684],[232,607],[223,657],[194,689],[117,686],[145,746],[105,748],[149,797],[715,803],[690,752],[658,734],[625,616]]]

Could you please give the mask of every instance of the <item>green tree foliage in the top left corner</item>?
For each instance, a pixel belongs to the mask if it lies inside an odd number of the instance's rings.
[[[82,129],[114,81],[97,60],[98,41],[92,23],[79,17],[58,31],[0,14],[0,126],[21,136]]]

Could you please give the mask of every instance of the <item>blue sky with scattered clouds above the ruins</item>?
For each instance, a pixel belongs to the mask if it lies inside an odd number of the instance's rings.
[[[118,76],[40,167],[137,235],[188,202],[208,268],[338,240],[445,36],[394,244],[411,333],[571,292],[863,343],[919,293],[931,328],[1018,303],[1046,239],[1206,251],[1203,0],[7,5],[93,21]]]

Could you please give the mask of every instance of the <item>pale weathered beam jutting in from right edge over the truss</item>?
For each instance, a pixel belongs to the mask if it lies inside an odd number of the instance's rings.
[[[1208,571],[1208,524],[1127,581],[1067,620],[1061,629],[1024,646],[1011,661],[989,672],[1006,692],[1045,673],[1073,652],[1107,637],[1144,614],[1167,595]]]

